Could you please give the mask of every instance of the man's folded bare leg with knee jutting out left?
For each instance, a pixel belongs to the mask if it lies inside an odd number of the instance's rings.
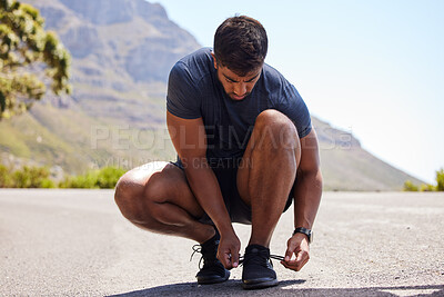
[[[115,187],[114,199],[122,215],[142,229],[200,244],[215,234],[212,226],[198,221],[204,211],[183,170],[174,165],[152,162],[128,171]]]

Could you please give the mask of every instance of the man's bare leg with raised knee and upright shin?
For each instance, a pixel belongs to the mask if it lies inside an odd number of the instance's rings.
[[[276,110],[259,115],[238,171],[238,189],[252,209],[250,245],[270,246],[293,186],[301,149],[293,122]]]

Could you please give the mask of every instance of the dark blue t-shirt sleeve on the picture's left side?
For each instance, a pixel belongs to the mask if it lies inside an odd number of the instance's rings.
[[[200,92],[190,69],[179,61],[170,71],[167,92],[167,110],[183,119],[201,117]]]

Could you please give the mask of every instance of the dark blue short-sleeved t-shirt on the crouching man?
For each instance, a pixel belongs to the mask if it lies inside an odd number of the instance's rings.
[[[167,109],[183,119],[203,119],[206,158],[242,157],[254,121],[265,109],[276,109],[295,125],[300,138],[312,128],[309,110],[297,90],[278,70],[264,65],[252,92],[231,99],[218,79],[210,48],[178,61],[170,72]]]

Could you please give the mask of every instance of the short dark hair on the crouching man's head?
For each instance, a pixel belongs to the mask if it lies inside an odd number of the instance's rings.
[[[226,19],[214,34],[214,55],[218,63],[239,76],[262,67],[269,39],[262,24],[250,17]]]

